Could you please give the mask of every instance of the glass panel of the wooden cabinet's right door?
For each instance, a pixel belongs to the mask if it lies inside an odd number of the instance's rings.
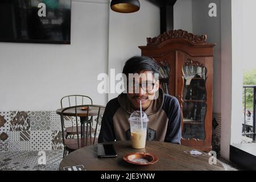
[[[206,72],[207,69],[201,64],[188,61],[183,65],[183,139],[205,139]]]

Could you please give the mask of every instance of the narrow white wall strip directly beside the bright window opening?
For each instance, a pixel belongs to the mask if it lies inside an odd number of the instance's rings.
[[[231,5],[231,0],[221,1],[221,156],[225,159],[229,159],[233,105]]]

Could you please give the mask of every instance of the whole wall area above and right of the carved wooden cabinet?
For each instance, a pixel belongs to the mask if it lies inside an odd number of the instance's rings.
[[[217,17],[208,16],[209,3],[216,3]],[[213,112],[221,113],[221,33],[220,0],[179,0],[174,5],[174,29],[183,29],[193,34],[207,34],[207,42],[214,47]]]

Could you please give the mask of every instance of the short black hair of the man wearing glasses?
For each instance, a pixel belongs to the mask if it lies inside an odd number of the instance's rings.
[[[152,74],[159,73],[159,66],[150,57],[134,56],[127,60],[123,67],[123,74],[127,77],[129,73],[141,73],[142,71],[151,71]]]

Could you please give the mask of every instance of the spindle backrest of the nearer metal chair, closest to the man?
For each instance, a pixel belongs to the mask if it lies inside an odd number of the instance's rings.
[[[99,123],[101,122],[102,115],[105,111],[105,106],[102,105],[78,105],[78,106],[71,106],[65,107],[61,111],[60,118],[61,118],[61,130],[62,130],[62,137],[63,137],[63,144],[65,146],[65,140],[68,140],[64,136],[64,115],[66,114],[67,110],[72,111],[73,117],[75,117],[76,121],[76,132],[77,132],[77,148],[88,146],[88,144],[95,144],[97,133],[100,133]],[[70,115],[70,114],[69,114]],[[82,142],[79,143],[79,139],[83,136],[80,136],[79,133],[79,120],[84,122],[85,130],[82,130],[85,133],[85,137],[83,138]],[[91,133],[91,129],[94,130],[93,134]],[[88,135],[89,134],[89,135]],[[93,141],[92,141],[93,140]],[[90,142],[89,142],[90,141]]]

